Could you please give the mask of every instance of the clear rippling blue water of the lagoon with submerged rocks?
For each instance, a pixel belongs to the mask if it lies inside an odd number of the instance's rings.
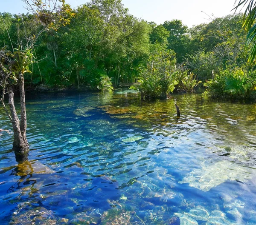
[[[26,107],[29,162],[0,133],[1,224],[256,224],[255,103],[117,90]]]

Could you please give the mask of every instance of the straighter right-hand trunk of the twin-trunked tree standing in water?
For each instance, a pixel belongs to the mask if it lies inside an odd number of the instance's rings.
[[[20,132],[24,143],[29,146],[26,139],[26,103],[25,103],[25,89],[23,74],[19,74],[19,88],[20,88]]]

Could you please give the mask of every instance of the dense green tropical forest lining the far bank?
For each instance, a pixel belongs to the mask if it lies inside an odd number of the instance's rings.
[[[142,98],[193,92],[197,85],[216,98],[256,97],[255,62],[241,14],[188,28],[181,20],[157,25],[138,19],[121,0],[92,0],[69,13],[70,19],[44,30],[25,53],[27,90],[102,91],[133,83]],[[45,15],[38,20],[35,13],[0,15],[0,46],[10,54],[25,50],[47,24]]]

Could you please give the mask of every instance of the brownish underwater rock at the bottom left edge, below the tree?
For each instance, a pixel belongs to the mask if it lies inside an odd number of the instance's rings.
[[[54,225],[58,224],[54,213],[44,207],[32,208],[23,212],[20,210],[18,214],[14,214],[11,218],[10,225]]]

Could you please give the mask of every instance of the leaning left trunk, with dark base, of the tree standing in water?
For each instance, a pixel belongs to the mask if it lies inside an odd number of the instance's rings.
[[[13,150],[17,161],[27,160],[29,145],[27,142],[24,142],[22,133],[20,131],[20,120],[17,116],[15,105],[14,105],[14,93],[13,87],[8,88],[8,97],[9,97],[9,107],[12,115],[12,127],[13,127]]]

